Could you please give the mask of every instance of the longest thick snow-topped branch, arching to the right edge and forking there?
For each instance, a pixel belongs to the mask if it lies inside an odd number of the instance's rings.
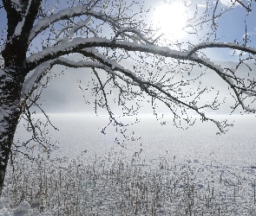
[[[35,68],[44,61],[47,60],[54,60],[64,54],[70,54],[70,53],[82,53],[86,51],[86,48],[120,48],[127,51],[138,51],[138,52],[144,52],[149,54],[158,54],[161,56],[177,59],[177,60],[190,60],[197,63],[200,63],[201,65],[204,65],[205,67],[212,69],[215,73],[218,73],[221,79],[223,79],[228,86],[230,86],[233,89],[233,92],[237,96],[238,100],[240,100],[240,93],[237,91],[239,89],[239,86],[235,86],[233,83],[233,80],[231,79],[230,75],[228,75],[224,69],[220,66],[217,66],[213,63],[213,61],[207,60],[203,57],[200,57],[198,54],[194,54],[197,50],[200,48],[213,48],[216,47],[225,47],[225,48],[240,48],[240,49],[246,49],[247,52],[255,52],[253,48],[245,48],[241,47],[237,44],[231,44],[231,43],[205,43],[200,44],[199,46],[192,48],[190,51],[177,51],[174,49],[170,49],[167,47],[160,47],[154,44],[141,44],[141,43],[135,43],[135,42],[129,42],[129,41],[112,41],[108,40],[107,38],[101,38],[101,37],[93,37],[93,38],[75,38],[73,41],[70,41],[69,43],[62,44],[61,46],[56,46],[54,48],[45,48],[42,52],[39,52],[37,54],[32,54],[27,59],[27,67],[28,68]],[[99,53],[94,51],[94,53],[89,52],[88,57],[93,54],[95,56],[99,56]],[[95,58],[94,56],[94,58]],[[102,58],[102,57],[101,57]],[[106,64],[106,62],[102,62],[103,64]],[[109,62],[108,62],[109,63]],[[111,62],[110,62],[111,63]],[[246,111],[254,111],[249,107],[244,106]]]

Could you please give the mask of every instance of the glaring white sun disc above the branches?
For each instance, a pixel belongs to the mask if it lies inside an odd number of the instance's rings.
[[[187,11],[183,3],[166,3],[155,9],[154,27],[160,29],[162,34],[179,39],[185,35],[182,29],[186,22]]]

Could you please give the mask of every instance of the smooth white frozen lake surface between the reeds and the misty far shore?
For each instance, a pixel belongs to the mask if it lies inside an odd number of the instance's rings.
[[[86,114],[49,114],[52,124],[59,130],[50,130],[52,141],[58,141],[57,150],[52,155],[78,156],[87,150],[88,156],[101,156],[109,151],[123,151],[133,155],[142,149],[141,155],[157,158],[168,154],[175,160],[200,162],[220,162],[223,165],[256,166],[256,118],[251,116],[218,116],[227,118],[234,126],[226,134],[216,135],[217,127],[212,123],[201,123],[200,119],[187,130],[177,129],[172,118],[164,118],[169,123],[161,125],[153,115],[142,115],[141,122],[128,126],[127,135],[135,131],[137,141],[125,141],[122,148],[115,143],[115,128],[108,126],[106,135],[101,130],[108,124],[108,117]],[[124,123],[131,122],[125,118]],[[135,121],[135,118],[133,118]],[[121,137],[121,136],[118,136]],[[26,140],[28,134],[20,127],[16,139]]]

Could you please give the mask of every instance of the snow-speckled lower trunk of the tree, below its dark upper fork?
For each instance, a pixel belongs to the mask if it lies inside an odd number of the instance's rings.
[[[23,84],[23,80],[13,77],[13,73],[8,73],[8,71],[10,70],[0,70],[0,196],[16,125],[21,114]]]

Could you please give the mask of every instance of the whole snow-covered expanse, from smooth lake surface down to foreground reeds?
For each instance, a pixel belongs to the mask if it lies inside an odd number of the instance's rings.
[[[147,118],[133,128],[141,140],[127,149],[111,142],[111,129],[101,135],[97,121],[52,122],[59,124],[59,149],[48,160],[18,156],[0,215],[256,215],[252,118],[240,118],[221,137],[211,126],[184,132]]]

